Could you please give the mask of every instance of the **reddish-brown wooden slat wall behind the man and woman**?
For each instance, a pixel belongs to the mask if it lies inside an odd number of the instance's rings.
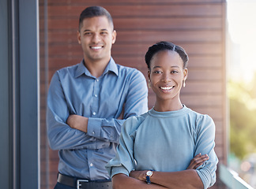
[[[190,61],[182,102],[195,111],[213,117],[216,123],[216,153],[220,162],[225,163],[224,0],[47,0],[47,6],[40,0],[42,188],[52,188],[58,172],[58,154],[49,150],[45,135],[47,85],[57,69],[81,61],[81,46],[77,43],[76,32],[79,15],[87,6],[104,6],[111,13],[117,31],[112,56],[120,65],[141,70],[146,79],[144,55],[149,46],[168,40],[185,48]],[[47,24],[43,25],[46,21]],[[154,101],[155,97],[149,91],[149,108],[152,108]],[[223,188],[221,186],[216,183],[215,187]]]

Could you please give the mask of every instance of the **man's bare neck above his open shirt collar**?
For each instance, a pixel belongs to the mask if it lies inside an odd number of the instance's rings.
[[[85,67],[88,69],[88,71],[92,74],[92,76],[95,76],[96,78],[100,77],[104,70],[107,67],[108,62],[110,59],[107,60],[100,60],[100,61],[91,61],[85,59]]]

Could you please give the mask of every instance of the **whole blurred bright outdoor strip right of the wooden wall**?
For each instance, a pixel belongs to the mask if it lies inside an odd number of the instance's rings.
[[[227,1],[228,165],[256,187],[256,1]]]

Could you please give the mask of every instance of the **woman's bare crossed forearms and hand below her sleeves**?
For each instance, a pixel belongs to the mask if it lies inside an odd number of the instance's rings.
[[[145,183],[145,175],[148,170],[132,171],[130,172],[130,176],[119,173],[112,177],[113,188],[203,188],[203,183],[194,169],[197,169],[198,166],[202,165],[207,160],[209,160],[207,154],[198,154],[190,161],[190,165],[184,171],[153,172],[150,178],[150,184]]]

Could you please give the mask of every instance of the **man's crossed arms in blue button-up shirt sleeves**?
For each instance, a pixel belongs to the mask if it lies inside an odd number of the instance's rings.
[[[115,116],[90,117],[87,107],[85,107],[87,112],[79,110],[75,103],[76,100],[70,95],[70,88],[73,88],[72,82],[63,84],[73,80],[71,77],[65,70],[55,72],[47,95],[47,135],[53,150],[92,148],[95,147],[95,144],[92,143],[95,141],[98,146],[105,142],[119,143],[121,126],[126,118],[145,113],[148,110],[148,91],[142,73],[136,72],[130,79],[128,93],[124,94],[126,95],[126,106],[124,106],[122,119]],[[73,91],[73,93],[77,92],[79,91]],[[115,113],[117,115],[119,110],[114,109],[111,115]]]

